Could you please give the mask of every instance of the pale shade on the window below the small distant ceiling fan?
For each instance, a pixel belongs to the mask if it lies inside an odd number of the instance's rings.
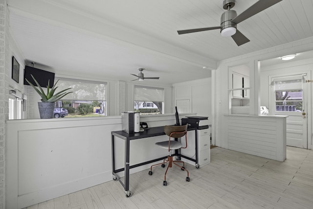
[[[156,87],[135,86],[134,101],[163,101],[164,89]]]

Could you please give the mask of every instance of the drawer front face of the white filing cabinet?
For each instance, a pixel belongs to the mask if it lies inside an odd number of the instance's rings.
[[[211,155],[211,129],[197,130],[198,135],[198,164],[205,165],[210,163]]]

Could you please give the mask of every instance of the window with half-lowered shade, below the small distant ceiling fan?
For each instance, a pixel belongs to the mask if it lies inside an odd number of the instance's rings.
[[[140,114],[163,113],[164,89],[156,87],[134,87],[134,110]]]

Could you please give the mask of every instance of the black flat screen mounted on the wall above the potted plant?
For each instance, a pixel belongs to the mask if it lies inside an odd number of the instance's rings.
[[[25,66],[24,70],[24,85],[29,85],[25,78],[30,81],[34,86],[37,86],[33,78],[31,77],[31,74],[35,77],[35,79],[38,81],[39,85],[41,87],[47,88],[48,85],[48,80],[50,81],[49,83],[49,88],[52,88],[54,84],[54,73],[45,71],[45,70],[40,70],[37,68],[33,68],[30,66]]]

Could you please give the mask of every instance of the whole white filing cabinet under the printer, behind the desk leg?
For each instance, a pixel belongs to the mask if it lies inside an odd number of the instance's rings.
[[[207,163],[210,163],[210,148],[211,148],[211,142],[210,142],[210,136],[211,136],[211,129],[202,129],[197,130],[197,139],[198,139],[198,164],[205,165]],[[181,138],[182,145],[184,146],[184,137]],[[181,149],[180,153],[182,155],[185,155],[187,157],[190,157],[192,159],[196,159],[195,157],[195,132],[194,131],[188,131],[187,133],[187,141],[188,146],[186,149]],[[187,159],[181,158],[182,161],[189,163],[189,164],[195,164],[195,162],[189,161]]]

